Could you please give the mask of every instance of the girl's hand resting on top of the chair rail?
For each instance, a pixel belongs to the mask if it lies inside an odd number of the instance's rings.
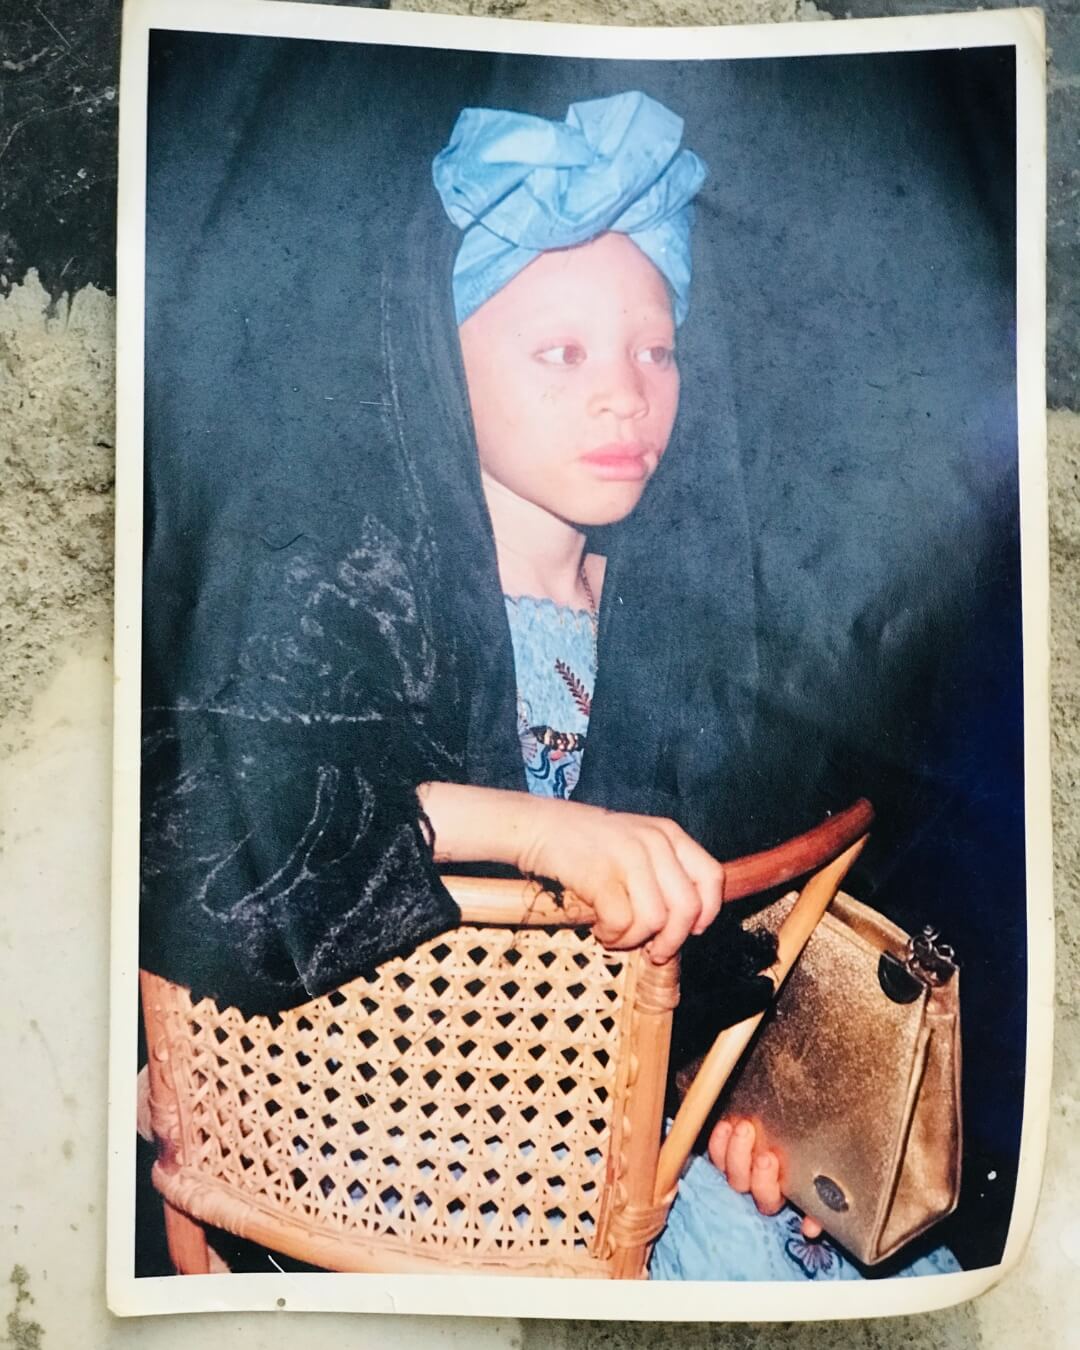
[[[533,805],[518,868],[551,876],[591,905],[605,946],[651,938],[649,957],[659,965],[720,913],[724,871],[674,821],[580,802]]]

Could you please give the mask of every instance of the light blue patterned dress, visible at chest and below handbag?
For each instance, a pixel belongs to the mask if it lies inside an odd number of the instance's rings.
[[[587,610],[529,595],[506,597],[517,678],[517,730],[531,792],[568,798],[580,775],[597,679],[594,618]],[[694,1157],[649,1264],[652,1280],[861,1280],[822,1237],[802,1237],[791,1206],[772,1216],[733,1191],[713,1164]],[[948,1247],[919,1257],[900,1276],[960,1270]]]

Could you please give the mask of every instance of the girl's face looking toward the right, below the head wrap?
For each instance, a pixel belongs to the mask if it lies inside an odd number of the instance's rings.
[[[541,254],[459,336],[487,486],[574,525],[628,516],[679,406],[671,301],[637,246]]]

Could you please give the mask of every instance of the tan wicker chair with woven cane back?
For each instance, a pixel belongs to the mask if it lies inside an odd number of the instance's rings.
[[[725,898],[818,868],[869,819],[860,802],[726,864]],[[142,972],[178,1273],[212,1269],[213,1224],[333,1270],[644,1274],[701,1127],[680,1112],[660,1160],[678,963],[606,950],[535,883],[448,886],[460,927],[288,1013]]]

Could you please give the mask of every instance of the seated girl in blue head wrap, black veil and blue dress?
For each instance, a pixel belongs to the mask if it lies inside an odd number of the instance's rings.
[[[726,579],[643,556],[683,549],[664,462],[693,454],[672,439],[676,331],[705,166],[680,138],[640,93],[564,122],[462,113],[435,161],[462,231],[452,327],[421,217],[427,269],[383,294],[397,473],[355,541],[325,521],[262,560],[224,668],[180,697],[148,628],[170,697],[146,710],[147,967],[282,1007],[451,926],[439,869],[494,864],[576,891],[603,942],[657,963],[713,929],[729,1019],[763,1002],[767,952],[722,915],[702,846],[710,765],[740,744],[714,651],[738,624],[716,622]],[[709,1152],[720,1170],[691,1165],[653,1276],[855,1274],[784,1211],[749,1122]]]

